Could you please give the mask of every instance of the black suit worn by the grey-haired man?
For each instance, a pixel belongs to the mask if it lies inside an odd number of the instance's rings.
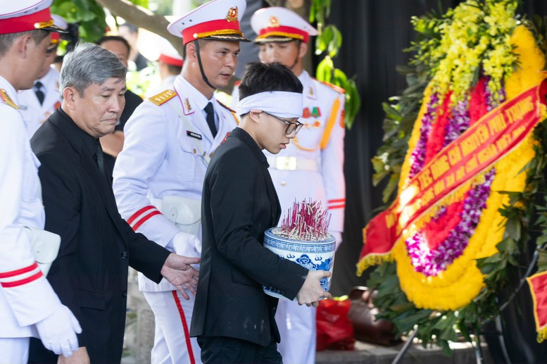
[[[61,249],[47,278],[80,321],[79,344],[87,346],[91,362],[120,363],[127,266],[160,282],[169,251],[122,220],[111,184],[89,151],[96,141],[61,108],[30,143],[42,163],[45,228],[61,235]],[[39,340],[32,341],[31,362],[57,363],[51,354]]]

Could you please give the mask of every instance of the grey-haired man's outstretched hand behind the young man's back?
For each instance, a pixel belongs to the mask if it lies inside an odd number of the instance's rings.
[[[186,256],[178,256],[175,253],[171,253],[167,257],[167,260],[165,260],[165,263],[163,263],[161,275],[163,275],[170,284],[177,287],[184,299],[190,299],[190,296],[188,296],[184,289],[187,289],[191,294],[195,295],[199,277],[199,270],[191,268],[190,264],[197,264],[200,261],[200,258],[188,258]]]

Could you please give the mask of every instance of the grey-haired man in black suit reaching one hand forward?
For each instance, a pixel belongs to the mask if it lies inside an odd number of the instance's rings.
[[[78,44],[63,61],[63,103],[30,143],[42,163],[46,229],[61,235],[51,286],[82,326],[70,363],[120,363],[127,301],[127,267],[155,282],[162,277],[195,293],[199,258],[170,253],[135,233],[118,213],[99,137],[114,130],[125,106],[118,58],[96,44]],[[59,361],[57,361],[59,360]],[[34,340],[30,363],[67,363]]]

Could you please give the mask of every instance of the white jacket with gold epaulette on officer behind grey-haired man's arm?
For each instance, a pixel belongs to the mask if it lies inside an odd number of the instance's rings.
[[[171,91],[144,101],[127,120],[123,150],[114,167],[113,189],[122,218],[135,231],[171,251],[175,251],[172,238],[180,230],[152,201],[166,196],[201,201],[208,160],[237,127],[235,113],[214,101],[218,133],[213,139],[203,114],[208,102],[182,76],[177,76]],[[201,242],[201,227],[199,239]],[[194,246],[196,237],[187,234],[186,241],[182,249],[177,246],[176,253],[199,256],[201,246]],[[170,291],[175,287],[165,279],[153,283],[139,273],[139,289]]]

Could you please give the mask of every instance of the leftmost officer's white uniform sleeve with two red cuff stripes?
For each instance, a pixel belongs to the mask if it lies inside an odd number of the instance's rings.
[[[34,199],[40,199],[41,190],[25,124],[20,114],[9,106],[0,108],[0,112],[3,121],[0,133],[0,301],[5,298],[18,324],[27,326],[54,313],[61,302],[34,260],[30,239],[21,221],[23,211],[43,214],[43,210],[25,210],[23,206],[29,193],[34,194]],[[32,168],[28,168],[30,165]],[[35,175],[25,175],[25,171]],[[37,185],[31,186],[29,182]],[[25,219],[28,222],[32,216],[25,216]],[[40,222],[38,228],[44,228],[43,218],[34,220]]]

